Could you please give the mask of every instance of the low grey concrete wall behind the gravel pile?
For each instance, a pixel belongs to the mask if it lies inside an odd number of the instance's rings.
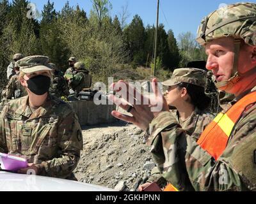
[[[115,105],[97,106],[93,101],[70,101],[69,104],[76,111],[80,126],[115,122],[111,115]]]

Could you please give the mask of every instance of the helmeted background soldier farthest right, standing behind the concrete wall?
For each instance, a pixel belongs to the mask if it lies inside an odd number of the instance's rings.
[[[92,78],[90,78],[89,71],[85,68],[83,62],[76,62],[74,68],[76,69],[76,74],[69,80],[68,85],[76,92],[76,96],[78,96],[82,89],[91,86]]]

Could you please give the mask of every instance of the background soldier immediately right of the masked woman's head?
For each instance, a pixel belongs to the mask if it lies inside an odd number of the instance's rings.
[[[53,80],[49,89],[49,93],[52,94],[52,96],[56,96],[57,98],[61,98],[62,96],[68,97],[68,84],[63,76],[63,73],[58,70],[56,64],[49,63],[49,66],[53,73]]]

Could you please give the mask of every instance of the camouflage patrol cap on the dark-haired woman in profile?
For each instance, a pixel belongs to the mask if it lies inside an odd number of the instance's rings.
[[[170,80],[163,82],[163,85],[172,86],[186,82],[188,84],[198,85],[200,87],[205,86],[207,72],[203,69],[196,68],[180,68],[173,71]]]

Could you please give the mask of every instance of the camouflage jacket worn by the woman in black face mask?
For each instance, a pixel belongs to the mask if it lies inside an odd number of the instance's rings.
[[[49,94],[31,112],[28,96],[10,101],[0,115],[0,152],[26,156],[38,175],[65,179],[79,161],[83,137],[74,110]]]

